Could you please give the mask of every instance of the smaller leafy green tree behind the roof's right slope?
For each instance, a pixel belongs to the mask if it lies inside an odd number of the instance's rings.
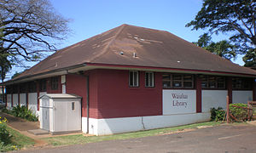
[[[212,37],[207,34],[203,34],[199,37],[198,42],[194,43],[195,45],[205,48],[212,52],[212,54],[217,54],[224,59],[236,59],[236,45],[231,44],[227,40],[212,42],[211,39]]]

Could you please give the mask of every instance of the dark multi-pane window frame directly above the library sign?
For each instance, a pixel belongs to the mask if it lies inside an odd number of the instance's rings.
[[[169,78],[164,79],[163,76],[167,75]],[[180,79],[174,79],[173,76],[181,76]],[[185,76],[191,77],[191,80],[184,80]],[[169,87],[164,87],[164,82],[169,82]],[[181,86],[175,87],[173,86],[174,82],[180,82]],[[191,87],[184,87],[184,82],[191,82]],[[181,73],[163,73],[162,74],[162,88],[175,88],[175,89],[193,89],[195,88],[195,77],[193,74],[181,74]]]

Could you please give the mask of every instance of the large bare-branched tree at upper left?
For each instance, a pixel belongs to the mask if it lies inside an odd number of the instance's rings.
[[[0,0],[1,54],[16,63],[38,60],[67,36],[67,23],[48,0]]]

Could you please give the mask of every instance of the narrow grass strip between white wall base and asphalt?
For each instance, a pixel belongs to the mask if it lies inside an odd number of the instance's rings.
[[[113,135],[106,135],[106,136],[88,136],[88,137],[84,136],[83,134],[77,134],[77,135],[45,138],[44,140],[46,140],[47,142],[49,142],[49,144],[52,144],[52,145],[86,144],[86,143],[99,142],[99,141],[112,140],[112,139],[133,139],[133,138],[154,136],[159,134],[172,133],[177,130],[196,128],[201,126],[217,126],[220,123],[221,122],[201,122],[201,123],[189,124],[189,125],[179,126],[179,127],[166,127],[166,128],[139,131],[139,132],[133,132],[133,133],[120,133],[120,134],[113,134]]]

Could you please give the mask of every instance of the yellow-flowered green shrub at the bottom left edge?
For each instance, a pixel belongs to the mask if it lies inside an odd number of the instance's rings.
[[[6,129],[6,118],[2,119],[0,117],[0,143],[2,145],[7,145],[11,143],[12,135],[9,133],[9,131]]]

